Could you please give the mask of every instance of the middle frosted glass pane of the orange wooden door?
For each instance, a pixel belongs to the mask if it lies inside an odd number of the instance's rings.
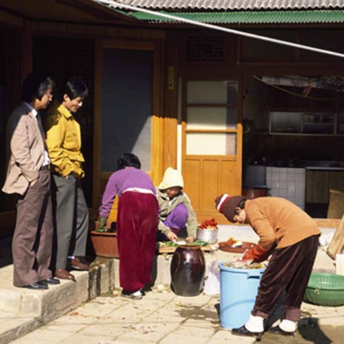
[[[187,129],[236,129],[236,108],[201,108],[187,109]]]

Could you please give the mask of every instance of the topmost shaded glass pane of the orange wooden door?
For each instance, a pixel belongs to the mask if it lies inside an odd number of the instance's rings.
[[[187,92],[188,104],[227,104],[237,102],[236,82],[189,81]],[[235,97],[233,97],[233,92]],[[229,101],[229,99],[231,100]]]

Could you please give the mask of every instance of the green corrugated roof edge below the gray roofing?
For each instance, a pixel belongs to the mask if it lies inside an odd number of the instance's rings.
[[[300,11],[241,11],[241,12],[163,12],[169,15],[211,24],[306,24],[344,23],[344,10]],[[139,20],[152,23],[178,23],[180,21],[142,12],[132,12]]]

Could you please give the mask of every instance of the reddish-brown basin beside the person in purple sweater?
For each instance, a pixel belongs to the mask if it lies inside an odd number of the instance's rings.
[[[96,256],[118,258],[116,223],[108,221],[106,230],[98,229],[98,221],[94,222],[91,230],[91,241]]]

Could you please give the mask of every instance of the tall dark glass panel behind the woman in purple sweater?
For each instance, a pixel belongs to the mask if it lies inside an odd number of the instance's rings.
[[[102,84],[101,171],[116,171],[125,152],[150,171],[153,52],[104,48]]]

